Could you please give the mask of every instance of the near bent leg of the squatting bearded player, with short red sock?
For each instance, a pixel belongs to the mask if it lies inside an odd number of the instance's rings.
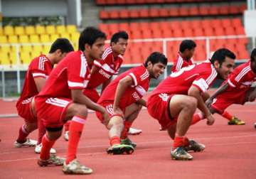
[[[174,127],[169,127],[168,134],[174,133],[174,143],[171,150],[171,158],[176,160],[192,160],[193,157],[186,152],[188,145],[186,132],[191,125],[193,113],[196,111],[197,101],[193,97],[185,95],[174,95],[169,102],[169,112],[171,117],[177,117],[176,131]]]

